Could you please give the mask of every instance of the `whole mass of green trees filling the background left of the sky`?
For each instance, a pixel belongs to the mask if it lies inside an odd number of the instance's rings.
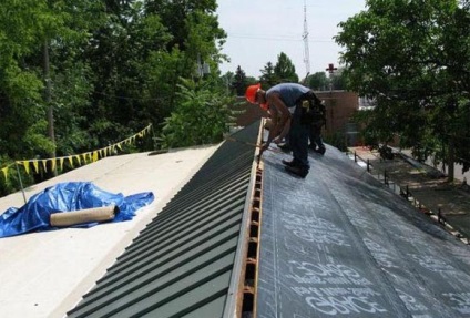
[[[226,34],[215,10],[215,0],[2,1],[0,156],[83,153],[149,123],[162,126],[184,109],[180,103],[191,94],[177,83],[195,80],[198,61],[211,68],[204,90],[217,92],[206,106],[216,110],[210,115],[214,130],[198,133],[208,134],[204,142],[216,140],[225,126],[214,104],[228,104],[231,92],[218,78]],[[196,101],[204,90],[197,88]],[[55,144],[48,130],[51,109]],[[145,147],[142,142],[126,151]]]

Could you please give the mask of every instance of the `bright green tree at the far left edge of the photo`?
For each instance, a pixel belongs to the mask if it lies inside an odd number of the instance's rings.
[[[53,82],[63,74],[61,65],[70,62],[70,52],[86,37],[73,30],[83,20],[73,14],[72,7],[81,4],[7,0],[0,6],[0,107],[6,111],[1,117],[7,122],[2,126],[17,120],[21,123],[16,125],[14,139],[9,130],[1,136],[10,141],[2,151],[12,157],[55,154],[53,109],[60,101],[54,99]]]

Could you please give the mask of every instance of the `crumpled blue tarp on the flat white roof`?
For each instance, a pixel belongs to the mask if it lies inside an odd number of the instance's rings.
[[[112,222],[130,220],[135,212],[153,202],[152,192],[124,196],[100,189],[90,182],[60,183],[33,195],[20,208],[10,207],[0,215],[0,237],[55,229],[49,223],[52,213],[115,205],[119,213]],[[81,224],[90,227],[98,223]],[[75,226],[78,227],[78,226]]]

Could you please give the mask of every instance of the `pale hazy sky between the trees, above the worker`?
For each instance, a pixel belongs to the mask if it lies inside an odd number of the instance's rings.
[[[365,10],[366,0],[217,0],[218,22],[227,33],[222,53],[231,60],[221,65],[222,74],[239,65],[246,75],[259,78],[260,70],[284,52],[304,79],[304,3],[310,74],[329,63],[338,66],[341,48],[333,39],[340,31],[337,25]]]

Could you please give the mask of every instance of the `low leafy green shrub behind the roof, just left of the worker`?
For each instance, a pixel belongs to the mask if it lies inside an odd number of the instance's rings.
[[[213,144],[223,140],[228,132],[233,102],[204,84],[182,80],[178,106],[165,119],[162,147],[185,147]]]

